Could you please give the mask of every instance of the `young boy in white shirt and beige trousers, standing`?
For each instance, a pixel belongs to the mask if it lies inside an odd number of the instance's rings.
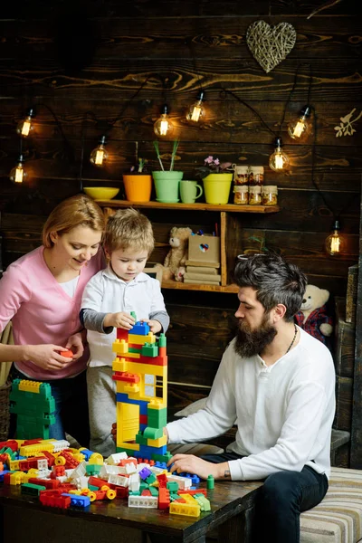
[[[81,300],[81,321],[88,329],[90,345],[90,450],[105,458],[115,452],[110,433],[116,419],[112,380],[115,328],[133,327],[131,311],[155,334],[166,332],[169,324],[159,282],[142,273],[154,243],[152,225],[144,214],[129,208],[111,216],[103,243],[109,265],[90,279]]]

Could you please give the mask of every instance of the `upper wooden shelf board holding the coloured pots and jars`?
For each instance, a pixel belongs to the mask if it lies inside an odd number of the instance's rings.
[[[277,213],[278,205],[234,205],[234,204],[164,204],[162,202],[129,202],[129,200],[95,200],[100,207],[131,207],[145,209],[190,209],[193,211],[231,211],[233,213]]]

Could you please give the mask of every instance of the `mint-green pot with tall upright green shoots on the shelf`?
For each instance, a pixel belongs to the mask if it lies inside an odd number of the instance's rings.
[[[152,177],[155,182],[156,199],[157,202],[166,202],[167,204],[174,204],[179,201],[178,190],[183,172],[174,170],[176,151],[178,148],[179,140],[176,139],[173,143],[172,153],[170,156],[169,169],[165,169],[162,162],[162,157],[159,151],[158,141],[153,142],[153,146],[156,151],[157,160],[160,170],[152,172]]]

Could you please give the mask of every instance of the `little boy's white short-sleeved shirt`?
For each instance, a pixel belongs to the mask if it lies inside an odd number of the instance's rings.
[[[110,269],[99,271],[84,289],[81,309],[104,313],[126,311],[136,313],[137,320],[148,319],[150,313],[166,311],[159,281],[147,273],[139,273],[132,281],[126,282]],[[111,366],[115,358],[112,344],[116,329],[110,334],[88,330],[90,345],[90,367]]]

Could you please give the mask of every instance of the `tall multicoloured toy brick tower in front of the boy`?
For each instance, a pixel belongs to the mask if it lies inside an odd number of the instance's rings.
[[[167,349],[148,324],[117,329],[113,379],[117,390],[117,452],[167,462]]]

